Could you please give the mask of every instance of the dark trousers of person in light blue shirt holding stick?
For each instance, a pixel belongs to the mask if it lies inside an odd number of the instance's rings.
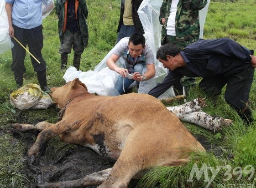
[[[26,47],[28,45],[30,53],[37,58],[40,64],[32,57],[31,62],[34,67],[34,71],[46,71],[46,62],[42,58],[42,47],[43,47],[43,34],[42,25],[39,25],[32,29],[23,29],[13,25],[14,37]],[[26,67],[24,66],[24,59],[26,56],[26,50],[11,37],[11,41],[14,43],[14,47],[11,49],[12,53],[12,65],[11,70],[21,72],[24,74],[26,72]]]

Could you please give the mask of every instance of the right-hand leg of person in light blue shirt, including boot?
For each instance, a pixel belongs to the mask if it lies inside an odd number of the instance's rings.
[[[46,79],[46,62],[42,58],[43,33],[42,25],[26,31],[27,44],[31,54],[37,58],[30,56],[34,71],[37,72],[37,80],[43,91],[49,91]]]

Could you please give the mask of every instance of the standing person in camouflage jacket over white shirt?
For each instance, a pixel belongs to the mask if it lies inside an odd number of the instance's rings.
[[[162,25],[161,44],[172,44],[183,49],[188,44],[199,40],[199,10],[207,0],[163,0],[159,20]],[[190,86],[195,85],[195,78],[184,76],[174,84],[176,95],[188,94]]]

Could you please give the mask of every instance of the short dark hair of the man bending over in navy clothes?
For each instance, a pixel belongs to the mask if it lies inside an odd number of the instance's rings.
[[[161,46],[157,50],[157,59],[161,58],[162,60],[167,61],[167,55],[176,56],[181,50],[172,44],[166,44]]]

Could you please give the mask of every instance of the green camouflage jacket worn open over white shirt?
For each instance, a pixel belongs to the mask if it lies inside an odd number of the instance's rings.
[[[172,0],[163,0],[160,8],[159,20],[162,25],[162,18],[165,24],[162,26],[161,43],[166,44],[166,26]],[[179,0],[175,18],[176,39],[180,46],[187,46],[199,40],[199,10],[203,9],[207,0]]]

